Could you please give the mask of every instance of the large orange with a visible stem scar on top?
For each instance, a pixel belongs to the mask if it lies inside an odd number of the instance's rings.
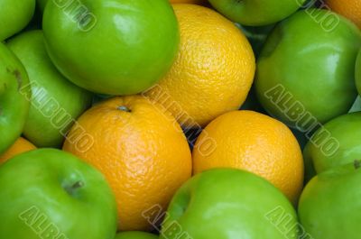
[[[106,176],[116,195],[119,230],[150,230],[142,212],[155,205],[166,209],[191,176],[190,147],[180,125],[140,96],[108,99],[81,115],[78,123],[92,135],[92,146],[81,152],[66,140],[63,149]]]

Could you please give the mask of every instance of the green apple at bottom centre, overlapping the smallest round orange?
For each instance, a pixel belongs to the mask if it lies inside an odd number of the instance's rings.
[[[277,227],[266,217],[275,208],[284,210],[290,226],[297,224],[289,200],[265,179],[243,170],[207,170],[186,182],[172,198],[161,238],[187,233],[193,239],[283,239],[284,225]],[[180,225],[179,234],[168,234],[175,224]],[[296,229],[291,228],[288,236],[298,238]]]

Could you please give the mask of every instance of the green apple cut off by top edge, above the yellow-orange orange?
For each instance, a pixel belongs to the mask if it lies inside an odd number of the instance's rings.
[[[293,14],[305,0],[209,0],[209,3],[236,23],[260,26],[277,23]]]

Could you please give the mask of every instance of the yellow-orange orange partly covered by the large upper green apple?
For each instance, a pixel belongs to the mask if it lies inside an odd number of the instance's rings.
[[[245,35],[221,14],[200,5],[173,7],[180,51],[170,72],[145,96],[183,126],[205,126],[244,103],[255,76],[254,52]]]

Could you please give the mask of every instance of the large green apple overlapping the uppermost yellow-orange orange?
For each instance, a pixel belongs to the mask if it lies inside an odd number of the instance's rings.
[[[168,0],[63,2],[46,5],[42,26],[51,60],[79,87],[132,95],[171,68],[180,36]]]

